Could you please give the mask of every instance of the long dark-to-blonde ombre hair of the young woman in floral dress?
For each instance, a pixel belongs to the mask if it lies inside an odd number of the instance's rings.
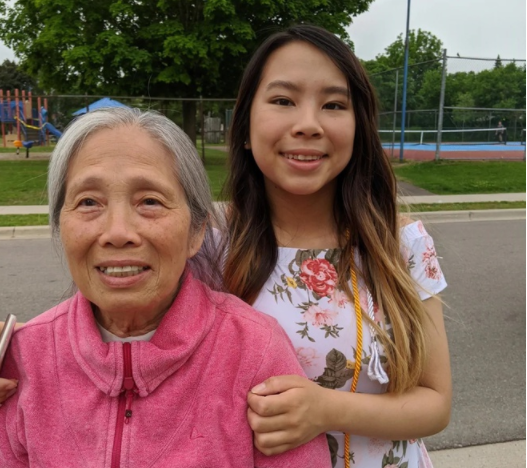
[[[242,77],[231,124],[230,174],[225,189],[231,200],[225,286],[252,304],[276,266],[278,246],[264,177],[245,142],[265,65],[273,52],[293,42],[316,47],[347,80],[356,129],[353,155],[337,177],[333,203],[341,246],[337,271],[341,288],[351,298],[353,266],[391,323],[393,336],[372,325],[387,355],[389,390],[402,392],[417,385],[421,377],[426,354],[423,322],[427,317],[400,253],[395,176],[378,136],[377,102],[365,70],[344,42],[319,27],[300,25],[273,34],[255,52]],[[360,269],[354,254],[360,258]]]

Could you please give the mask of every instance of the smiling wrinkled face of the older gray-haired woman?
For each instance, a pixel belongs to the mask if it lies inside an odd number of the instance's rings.
[[[87,138],[69,164],[60,234],[72,278],[101,314],[162,314],[171,305],[193,235],[173,158],[130,126]]]

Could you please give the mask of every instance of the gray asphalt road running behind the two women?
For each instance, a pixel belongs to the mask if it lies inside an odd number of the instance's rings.
[[[525,221],[432,224],[454,380],[450,426],[429,449],[525,439]],[[27,321],[67,297],[49,239],[0,241],[0,317]]]

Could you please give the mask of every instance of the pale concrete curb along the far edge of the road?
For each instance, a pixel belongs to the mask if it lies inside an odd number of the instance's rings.
[[[525,208],[473,211],[416,211],[409,213],[425,224],[465,223],[467,221],[512,221],[525,219]],[[0,240],[44,239],[51,237],[49,226],[0,227]]]

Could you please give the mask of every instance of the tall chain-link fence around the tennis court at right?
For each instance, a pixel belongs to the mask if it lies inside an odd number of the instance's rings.
[[[448,56],[408,67],[405,144],[525,144],[525,60]],[[403,69],[372,73],[383,143],[402,128]]]

